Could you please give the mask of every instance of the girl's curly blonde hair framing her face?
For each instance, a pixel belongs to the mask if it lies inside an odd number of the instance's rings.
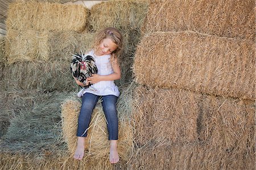
[[[118,61],[123,49],[122,34],[119,32],[119,30],[113,27],[108,27],[108,28],[105,28],[104,30],[101,30],[100,32],[98,32],[98,34],[94,39],[94,43],[92,47],[94,51],[97,51],[102,40],[104,40],[105,38],[111,39],[112,42],[115,43],[115,45],[117,45],[117,49],[115,49],[115,51],[111,53],[111,57],[112,57],[112,60],[117,59]]]

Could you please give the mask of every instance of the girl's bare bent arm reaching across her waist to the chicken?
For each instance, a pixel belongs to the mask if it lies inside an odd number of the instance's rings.
[[[87,80],[91,84],[94,84],[99,81],[110,81],[110,80],[118,80],[121,78],[121,69],[119,67],[119,64],[117,62],[117,59],[113,59],[111,62],[113,72],[112,74],[106,75],[106,76],[100,76],[99,74],[93,74],[92,77],[88,77]]]

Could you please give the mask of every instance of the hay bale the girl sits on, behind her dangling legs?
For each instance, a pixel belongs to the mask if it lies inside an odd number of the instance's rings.
[[[122,92],[117,103],[118,111],[118,153],[121,161],[118,165],[126,166],[125,164],[129,160],[133,148],[133,129],[130,125],[130,100],[131,100],[131,88],[127,88],[125,92]],[[68,98],[61,106],[61,115],[63,119],[63,136],[65,136],[68,150],[73,155],[76,150],[76,130],[77,119],[81,102],[77,97]],[[85,159],[97,160],[97,165],[110,168],[112,165],[109,163],[109,140],[108,130],[106,127],[106,119],[100,105],[100,102],[96,105],[93,111],[92,119],[89,125],[88,137],[85,142]]]

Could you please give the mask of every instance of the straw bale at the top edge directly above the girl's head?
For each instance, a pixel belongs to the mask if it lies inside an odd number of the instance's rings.
[[[89,27],[98,31],[105,27],[115,27],[121,32],[141,28],[146,17],[148,3],[145,1],[101,2],[90,10]]]

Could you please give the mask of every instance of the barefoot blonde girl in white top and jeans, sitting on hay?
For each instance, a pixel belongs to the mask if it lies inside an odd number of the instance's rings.
[[[122,35],[112,27],[105,28],[96,35],[93,49],[88,55],[96,61],[98,73],[87,78],[92,84],[89,88],[82,89],[77,95],[82,97],[82,106],[77,128],[77,148],[74,159],[81,160],[84,157],[84,143],[87,136],[91,115],[98,99],[102,96],[102,106],[107,121],[110,140],[110,163],[119,161],[117,151],[118,118],[115,103],[119,96],[114,80],[121,78],[121,70],[118,57],[122,49]],[[85,86],[75,78],[80,86]]]

